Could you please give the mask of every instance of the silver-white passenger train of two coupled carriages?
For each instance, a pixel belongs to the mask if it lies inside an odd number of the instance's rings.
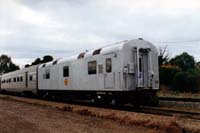
[[[143,39],[3,74],[1,90],[38,96],[135,103],[159,89],[158,53]],[[146,99],[147,100],[147,99]]]

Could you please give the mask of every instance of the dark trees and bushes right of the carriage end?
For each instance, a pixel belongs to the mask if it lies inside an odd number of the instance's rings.
[[[192,55],[183,52],[170,58],[167,47],[159,49],[160,85],[165,85],[173,91],[200,91],[200,62]]]

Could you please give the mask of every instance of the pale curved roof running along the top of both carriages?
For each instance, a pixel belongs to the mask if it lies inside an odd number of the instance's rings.
[[[151,43],[149,43],[148,41],[144,41],[143,39],[135,39],[135,40],[130,40],[130,41],[122,41],[122,42],[114,43],[114,44],[109,45],[109,46],[105,46],[105,47],[102,47],[102,48],[99,48],[99,49],[95,49],[95,50],[91,50],[91,51],[88,51],[88,52],[85,52],[85,53],[81,53],[82,54],[81,56],[79,54],[79,55],[74,55],[74,56],[62,58],[62,59],[57,60],[56,64],[62,64],[64,62],[78,60],[78,57],[87,58],[87,57],[95,56],[97,54],[104,55],[104,54],[117,52],[117,51],[122,50],[126,46],[129,46],[129,47],[134,46],[134,47],[140,47],[140,48],[143,48],[143,47],[147,48],[148,47],[148,48],[151,48],[152,51],[157,52],[156,47],[154,45],[152,45]],[[94,54],[94,52],[95,52],[95,54]],[[52,62],[45,63],[45,67],[52,66],[53,62],[55,62],[55,60],[52,61]],[[39,68],[43,67],[43,65],[44,64],[40,64]],[[28,67],[28,68],[23,68],[21,70],[17,70],[17,71],[14,71],[14,72],[10,72],[10,73],[7,73],[7,74],[3,74],[2,78],[9,77],[9,76],[12,76],[12,75],[15,75],[15,74],[19,74],[21,72],[32,71],[34,69],[36,71],[37,66],[38,65],[35,65],[35,66]]]

